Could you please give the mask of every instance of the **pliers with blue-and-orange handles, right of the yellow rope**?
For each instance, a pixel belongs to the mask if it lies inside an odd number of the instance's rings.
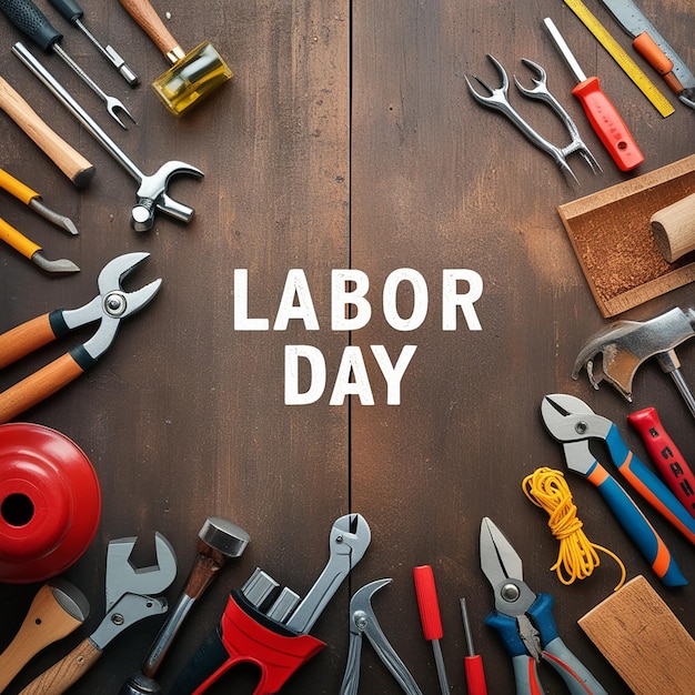
[[[595,485],[613,513],[666,586],[687,584],[666,544],[632,497],[598,463],[590,440],[605,442],[608,454],[625,480],[691,543],[695,543],[695,518],[666,485],[629,450],[611,420],[576,396],[554,393],[541,404],[541,415],[551,435],[562,443],[567,467]]]

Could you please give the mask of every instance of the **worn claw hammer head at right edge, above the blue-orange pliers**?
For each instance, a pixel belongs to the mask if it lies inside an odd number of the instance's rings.
[[[574,362],[572,379],[577,379],[585,366],[594,389],[605,379],[632,401],[632,382],[637,367],[695,335],[694,324],[695,312],[688,309],[686,313],[678,308],[648,321],[616,321],[584,344]],[[594,362],[598,353],[601,365]]]

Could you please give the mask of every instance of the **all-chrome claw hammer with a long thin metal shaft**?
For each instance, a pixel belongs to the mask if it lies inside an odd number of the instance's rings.
[[[123,169],[138,182],[138,203],[131,211],[131,226],[138,232],[144,232],[154,224],[157,210],[171,215],[181,222],[189,222],[193,216],[193,209],[173,200],[169,193],[169,181],[180,174],[203,177],[203,172],[185,162],[164,162],[153,174],[144,174],[133,161],[121,150],[115,142],[82,109],[60,82],[37,60],[22,43],[17,42],[12,52],[29,68],[29,70],[51,91],[51,93],[74,115],[80,123],[103,145]]]

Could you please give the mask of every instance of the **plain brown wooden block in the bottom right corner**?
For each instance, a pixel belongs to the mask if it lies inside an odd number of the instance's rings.
[[[643,576],[577,623],[635,695],[695,694],[695,641]]]

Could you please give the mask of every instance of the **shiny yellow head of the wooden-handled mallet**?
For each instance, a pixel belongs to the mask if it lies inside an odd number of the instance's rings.
[[[232,77],[222,57],[204,41],[154,80],[152,88],[174,115],[183,115]]]

